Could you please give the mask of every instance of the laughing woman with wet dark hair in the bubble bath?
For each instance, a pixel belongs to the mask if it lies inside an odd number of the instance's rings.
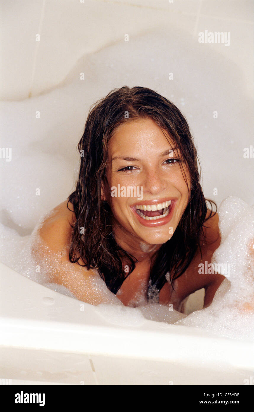
[[[91,304],[114,294],[176,310],[205,288],[209,306],[225,278],[198,265],[220,244],[218,215],[177,107],[151,89],[114,89],[90,110],[78,147],[76,190],[42,223],[43,252],[34,247],[51,262],[50,281]]]

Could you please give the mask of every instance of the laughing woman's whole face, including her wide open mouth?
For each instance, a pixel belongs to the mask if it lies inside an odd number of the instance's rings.
[[[114,215],[117,239],[159,245],[172,237],[189,200],[185,180],[190,186],[174,146],[152,119],[127,121],[115,129],[108,145],[109,187],[104,185],[102,194]]]

